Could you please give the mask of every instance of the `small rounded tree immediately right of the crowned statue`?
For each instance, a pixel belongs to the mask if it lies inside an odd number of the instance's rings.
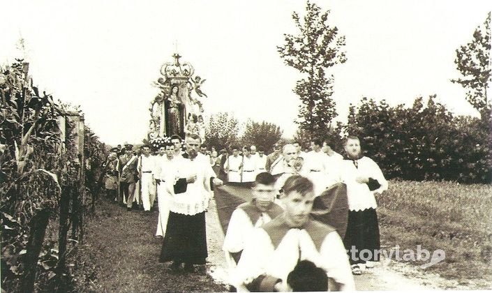
[[[226,112],[212,114],[205,127],[205,140],[216,149],[229,148],[239,142],[239,121]]]

